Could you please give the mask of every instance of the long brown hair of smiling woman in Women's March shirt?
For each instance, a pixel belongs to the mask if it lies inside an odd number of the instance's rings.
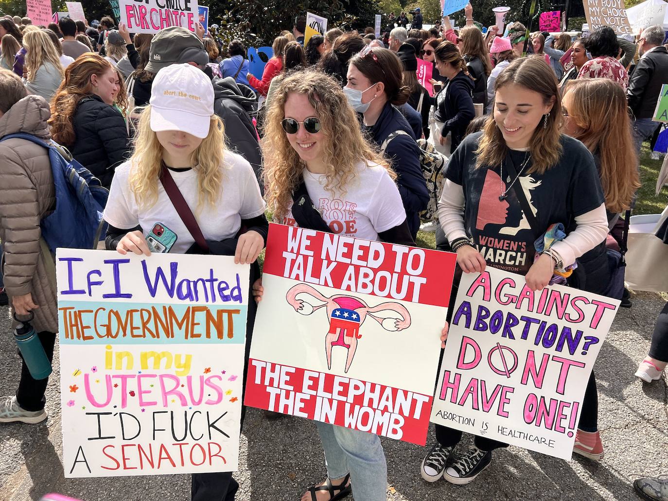
[[[543,174],[556,165],[563,150],[558,119],[561,115],[561,100],[554,71],[547,65],[544,57],[530,56],[515,59],[496,77],[494,91],[509,85],[538,92],[544,104],[552,103],[550,115],[544,122],[545,127],[543,128],[541,120],[529,142],[532,164],[527,172]],[[476,168],[500,165],[508,154],[508,146],[496,125],[494,114],[490,115],[485,124],[476,154],[478,154]]]

